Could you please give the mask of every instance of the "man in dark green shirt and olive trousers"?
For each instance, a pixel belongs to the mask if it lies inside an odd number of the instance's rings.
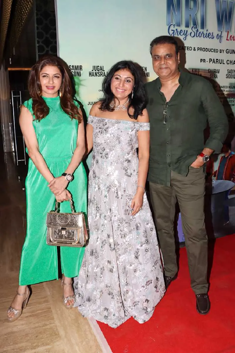
[[[220,152],[228,121],[211,84],[180,71],[176,40],[155,38],[150,44],[158,78],[146,84],[150,118],[148,180],[155,223],[164,259],[166,287],[177,275],[173,222],[179,203],[191,287],[200,314],[210,310],[207,282],[208,239],[204,223],[204,164]],[[204,144],[204,129],[210,136]]]

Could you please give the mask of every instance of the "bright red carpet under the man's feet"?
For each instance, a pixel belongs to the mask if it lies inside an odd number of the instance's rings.
[[[208,315],[196,312],[185,248],[179,267],[148,322],[131,318],[116,329],[98,322],[113,353],[235,353],[235,234],[216,239]]]

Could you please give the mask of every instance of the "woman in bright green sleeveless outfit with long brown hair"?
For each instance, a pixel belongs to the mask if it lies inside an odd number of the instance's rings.
[[[32,98],[20,112],[30,157],[25,181],[27,230],[9,321],[18,319],[26,307],[28,285],[58,279],[57,247],[46,244],[47,212],[55,208],[55,201],[67,201],[72,194],[76,211],[87,213],[87,175],[81,162],[84,124],[65,62],[55,56],[40,59],[30,71],[28,89]],[[70,203],[63,202],[60,210],[71,212]],[[83,254],[84,247],[60,247],[66,308],[75,302],[72,278],[78,275]]]

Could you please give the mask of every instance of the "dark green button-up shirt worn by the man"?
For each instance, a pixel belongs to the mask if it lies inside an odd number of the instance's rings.
[[[160,89],[159,78],[146,83],[150,118],[148,180],[170,186],[171,170],[186,176],[203,148],[220,152],[228,133],[228,119],[212,85],[201,76],[180,71],[179,87],[168,102],[165,116],[166,98]],[[204,144],[207,123],[210,136]]]

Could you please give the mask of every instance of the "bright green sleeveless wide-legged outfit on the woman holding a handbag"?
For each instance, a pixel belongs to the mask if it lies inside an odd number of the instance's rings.
[[[40,153],[54,177],[59,177],[76,148],[78,121],[64,113],[59,96],[43,98],[50,112],[44,119],[34,120],[33,127]],[[77,102],[75,104],[78,106]],[[32,99],[24,102],[24,106],[33,115]],[[47,185],[29,159],[25,180],[27,228],[19,273],[21,286],[58,279],[58,258],[66,277],[76,277],[82,264],[84,247],[61,246],[58,257],[57,247],[46,244],[46,214],[55,208],[55,196]],[[67,189],[72,194],[75,210],[87,214],[87,174],[82,162]],[[61,203],[60,211],[71,212],[70,203]]]

